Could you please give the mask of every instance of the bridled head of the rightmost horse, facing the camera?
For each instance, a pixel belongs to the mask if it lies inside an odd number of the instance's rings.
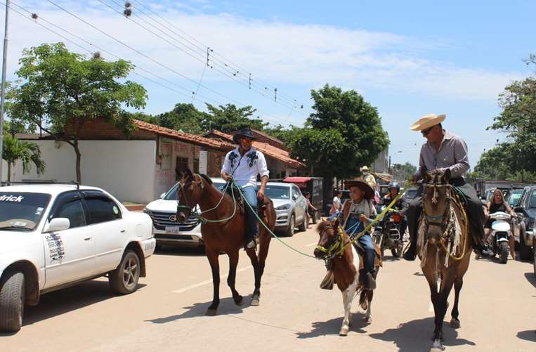
[[[429,173],[422,170],[424,189],[422,206],[424,221],[428,227],[427,238],[432,245],[439,245],[440,238],[450,219],[452,186],[449,184],[450,169]]]

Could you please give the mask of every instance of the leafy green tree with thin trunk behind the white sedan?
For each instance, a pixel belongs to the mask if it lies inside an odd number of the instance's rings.
[[[9,114],[30,129],[51,133],[74,148],[77,181],[81,182],[79,135],[90,119],[104,117],[130,133],[136,126],[123,106],[145,106],[147,92],[126,80],[133,65],[71,53],[65,44],[25,49],[16,72],[20,81],[8,92]]]

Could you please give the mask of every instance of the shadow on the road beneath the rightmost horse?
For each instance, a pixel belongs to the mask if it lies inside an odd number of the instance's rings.
[[[462,322],[463,323],[463,322]],[[430,351],[432,346],[433,317],[405,322],[396,328],[388,329],[381,334],[370,334],[372,339],[393,341],[400,352]],[[476,346],[473,341],[459,339],[458,332],[445,322],[443,326],[443,345]]]

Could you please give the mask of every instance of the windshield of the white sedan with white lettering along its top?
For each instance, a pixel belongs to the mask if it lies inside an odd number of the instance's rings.
[[[0,192],[0,230],[33,230],[50,199],[44,193]]]

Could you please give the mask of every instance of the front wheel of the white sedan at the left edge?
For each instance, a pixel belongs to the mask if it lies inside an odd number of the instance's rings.
[[[25,301],[24,274],[18,271],[6,275],[0,286],[0,331],[20,330]]]

